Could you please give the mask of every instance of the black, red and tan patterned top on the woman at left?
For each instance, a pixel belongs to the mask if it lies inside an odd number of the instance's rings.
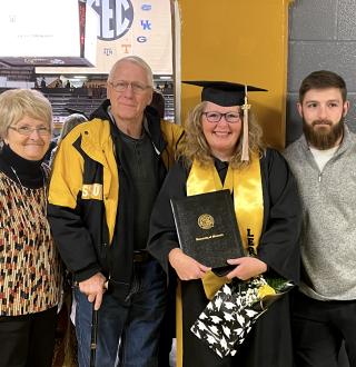
[[[27,188],[0,172],[0,316],[59,302],[60,261],[46,205],[46,187]]]

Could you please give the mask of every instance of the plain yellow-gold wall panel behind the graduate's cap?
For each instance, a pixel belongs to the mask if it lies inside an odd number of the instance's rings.
[[[285,145],[289,2],[178,0],[181,79],[227,80],[268,89],[250,93],[249,101],[265,141],[277,149]],[[182,120],[199,97],[198,88],[182,86]]]

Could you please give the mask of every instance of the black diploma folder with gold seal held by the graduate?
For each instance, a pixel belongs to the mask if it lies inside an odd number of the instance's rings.
[[[211,268],[245,256],[229,190],[171,199],[170,204],[186,255]]]

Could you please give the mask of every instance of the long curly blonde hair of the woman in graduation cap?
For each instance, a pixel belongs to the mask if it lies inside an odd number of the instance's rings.
[[[197,159],[201,165],[209,165],[214,161],[210,147],[205,138],[201,117],[205,110],[206,102],[197,105],[189,113],[185,125],[185,139],[177,152],[178,158],[181,158],[187,167],[190,167],[194,159]],[[244,125],[243,125],[244,127]],[[237,141],[235,152],[230,159],[233,168],[243,168],[248,166],[250,161],[241,161],[243,153],[243,129],[240,138]],[[248,150],[249,153],[258,152],[261,155],[265,147],[261,141],[261,128],[257,123],[255,117],[249,112],[248,121]]]

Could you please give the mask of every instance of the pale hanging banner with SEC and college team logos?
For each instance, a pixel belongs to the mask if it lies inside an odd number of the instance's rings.
[[[155,75],[172,75],[170,0],[87,0],[86,18],[87,31],[96,20],[93,66],[37,68],[37,73],[107,75],[118,59],[136,54],[149,63]],[[61,24],[69,27],[66,20]]]

